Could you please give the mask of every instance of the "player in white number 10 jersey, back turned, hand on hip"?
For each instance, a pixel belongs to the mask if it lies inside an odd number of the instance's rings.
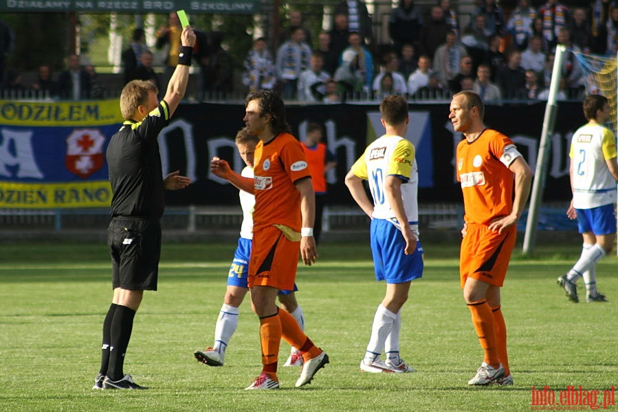
[[[371,251],[377,280],[386,281],[386,296],[373,318],[371,338],[360,363],[362,371],[412,372],[399,356],[401,307],[410,283],[423,275],[419,242],[415,147],[404,136],[410,117],[401,96],[388,96],[379,106],[386,134],[370,144],[346,176],[352,197],[371,218]],[[362,181],[369,181],[373,203]],[[386,361],[380,356],[386,354]]]

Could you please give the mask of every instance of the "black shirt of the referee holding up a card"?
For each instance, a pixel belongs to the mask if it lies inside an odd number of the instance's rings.
[[[159,220],[165,208],[164,182],[157,137],[170,119],[167,103],[142,122],[126,120],[107,146],[111,182],[111,217]]]

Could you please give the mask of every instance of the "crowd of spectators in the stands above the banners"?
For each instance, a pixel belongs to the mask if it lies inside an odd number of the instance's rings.
[[[376,44],[373,23],[362,0],[342,0],[334,8],[331,30],[312,33],[302,13],[289,12],[277,48],[267,38],[256,38],[233,84],[232,58],[223,47],[221,32],[198,36],[196,60],[201,73],[200,97],[276,89],[286,100],[344,102],[379,99],[386,94],[410,100],[450,99],[472,89],[488,102],[547,98],[553,58],[558,45],[569,50],[562,65],[560,98],[579,98],[584,90],[580,63],[572,52],[615,56],[618,50],[618,4],[592,0],[589,8],[567,8],[559,0],[533,7],[518,0],[503,10],[496,0],[478,0],[463,19],[456,3],[439,0],[429,8],[414,0],[400,0],[388,20],[388,44]],[[463,25],[462,21],[469,21]],[[170,13],[168,25],[157,31],[155,49],[165,54],[164,67],[175,67],[179,21]],[[312,40],[316,41],[316,44]],[[122,53],[124,82],[151,80],[160,87],[167,76],[153,68],[144,30],[136,29]],[[19,90],[19,73],[5,71],[3,89]],[[93,87],[94,86],[94,87]],[[59,98],[96,98],[93,67],[69,56],[67,70],[52,81],[49,66],[39,69],[32,89]]]

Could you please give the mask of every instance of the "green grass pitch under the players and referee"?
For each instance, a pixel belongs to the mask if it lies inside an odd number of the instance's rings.
[[[412,282],[401,330],[401,355],[416,373],[360,371],[385,286],[367,244],[322,244],[315,266],[299,266],[297,296],[307,334],[331,363],[302,389],[300,369],[280,366],[282,389],[256,393],[243,391],[261,370],[248,301],[223,367],[192,356],[212,345],[234,243],[164,244],[159,291],[144,295],[124,365],[148,391],[91,390],[111,301],[104,244],[0,244],[0,411],[529,411],[532,388],[545,386],[558,409],[568,386],[599,390],[603,402],[618,380],[614,254],[597,266],[610,301],[571,304],[555,278],[581,245],[540,245],[535,258],[518,247],[503,288],[515,385],[479,388],[467,386],[483,354],[459,288],[459,245],[423,246],[425,272]],[[279,365],[288,350],[283,342]]]

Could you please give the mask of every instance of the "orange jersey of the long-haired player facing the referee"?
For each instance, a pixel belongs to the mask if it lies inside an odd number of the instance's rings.
[[[258,141],[254,161],[254,233],[263,227],[285,225],[300,231],[300,192],[294,182],[311,177],[300,141],[280,133]]]

